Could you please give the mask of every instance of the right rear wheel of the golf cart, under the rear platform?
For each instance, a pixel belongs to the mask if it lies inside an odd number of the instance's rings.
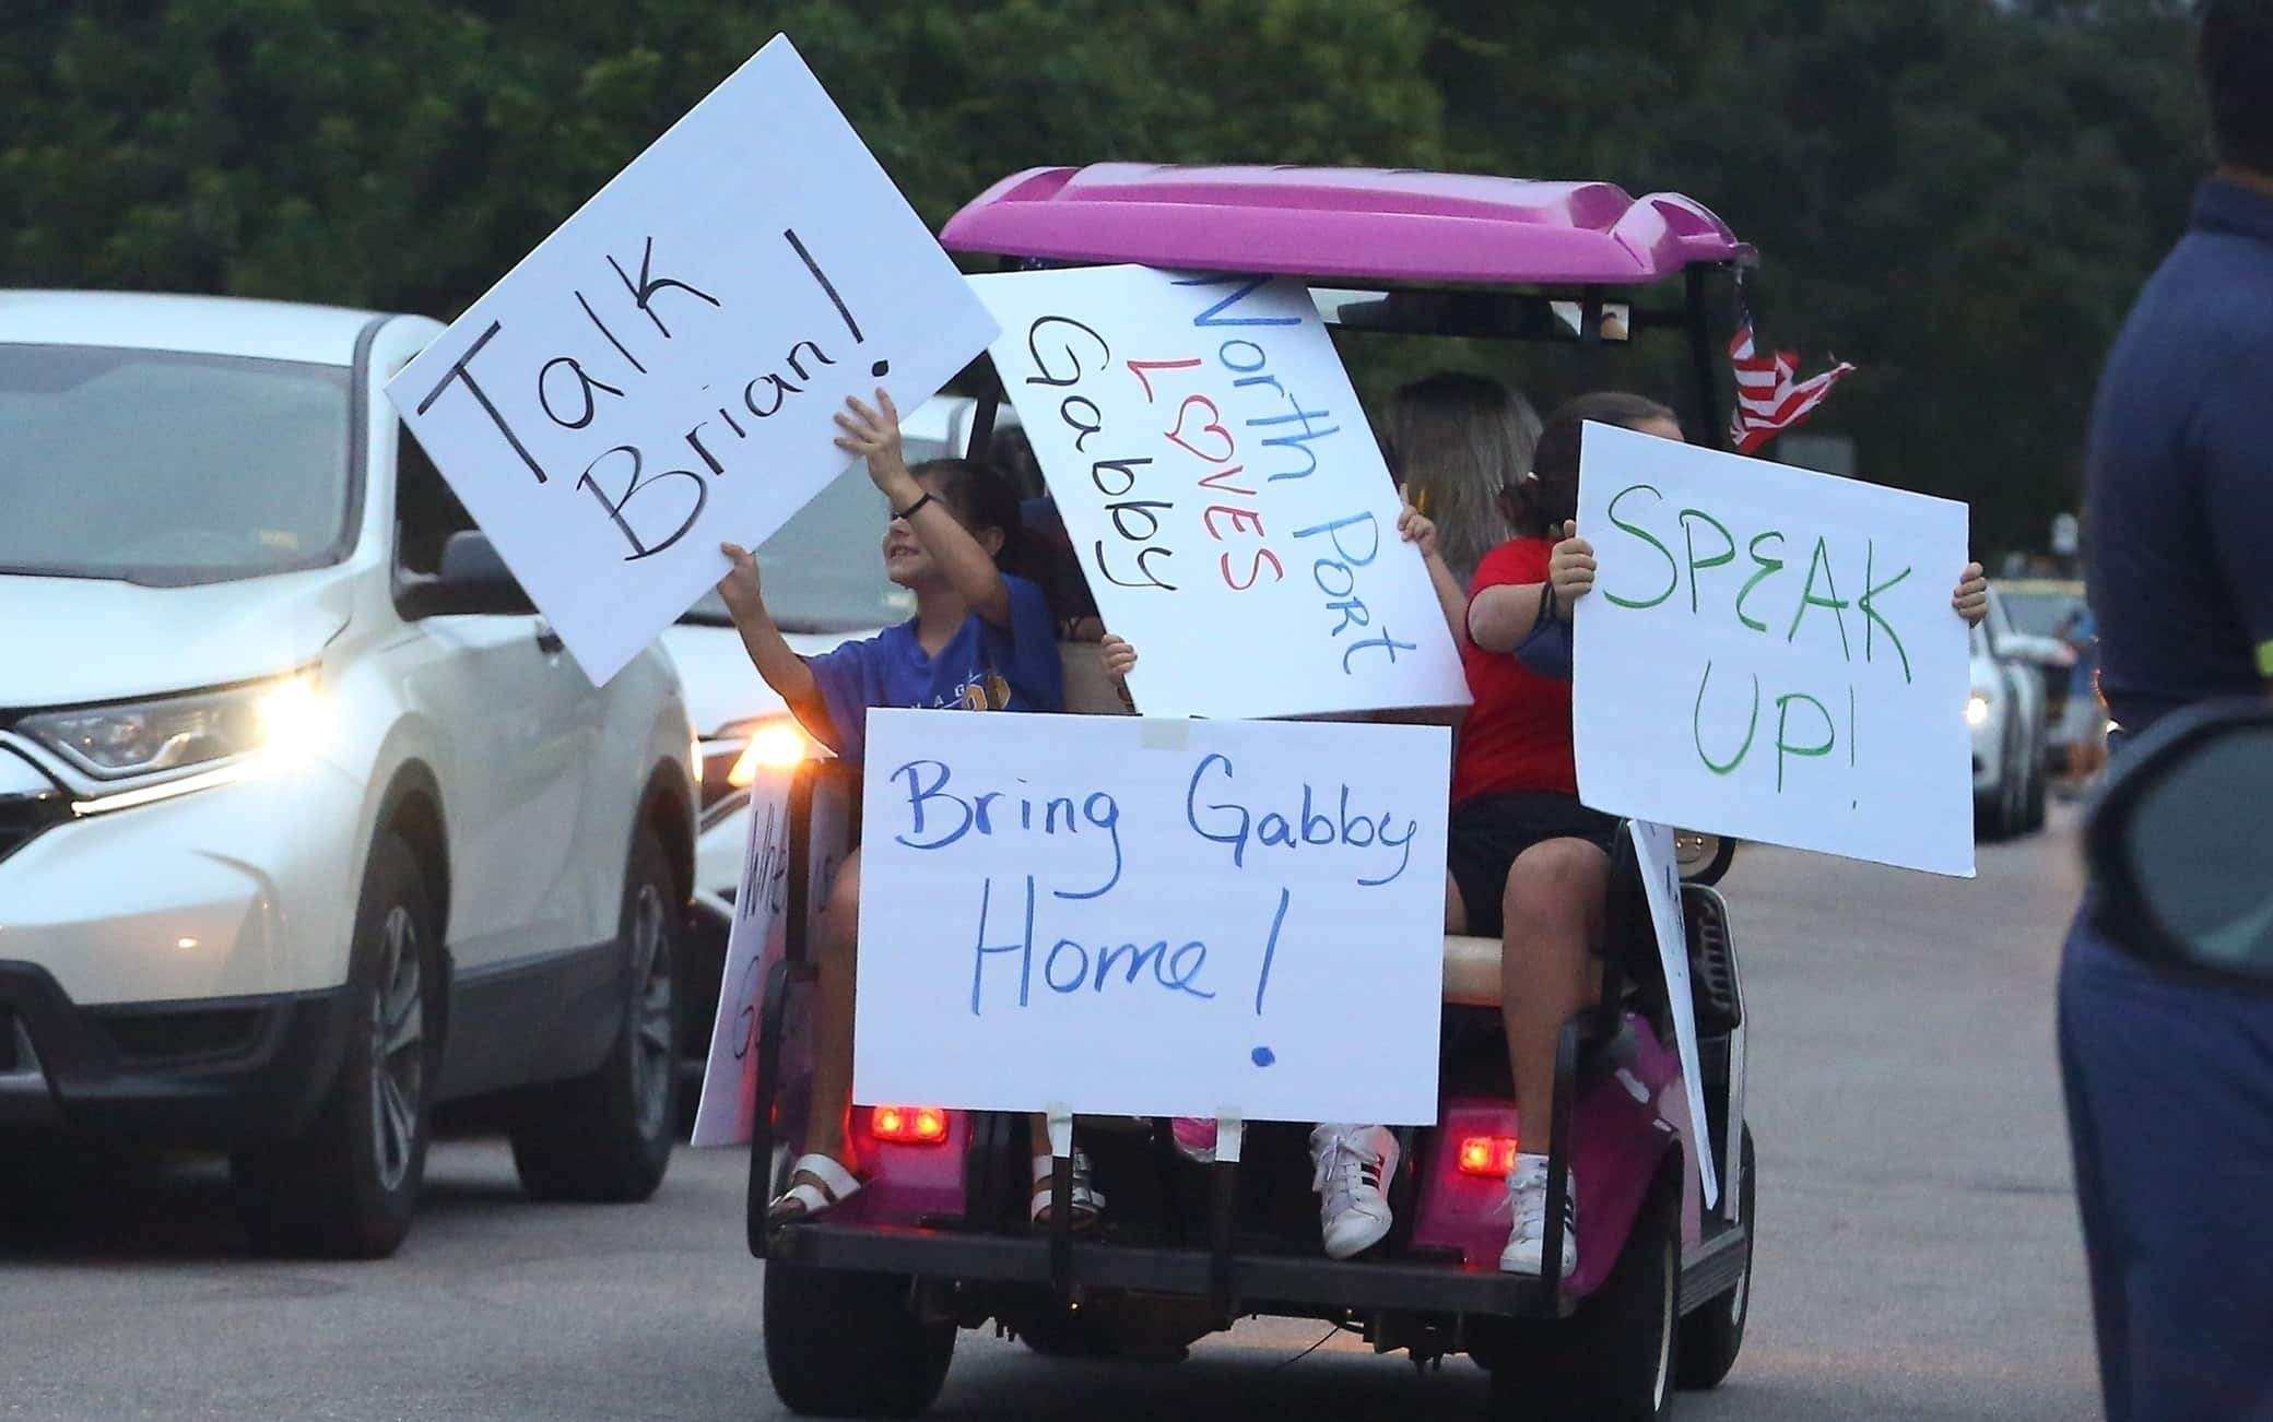
[[[1673,1349],[1682,1306],[1682,1170],[1657,1172],[1625,1252],[1577,1313],[1541,1338],[1546,1365],[1491,1370],[1496,1422],[1587,1417],[1659,1422],[1673,1408]]]

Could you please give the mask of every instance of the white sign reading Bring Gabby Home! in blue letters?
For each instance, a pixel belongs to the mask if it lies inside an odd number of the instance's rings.
[[[1437,1120],[1443,727],[871,711],[852,1095]]]

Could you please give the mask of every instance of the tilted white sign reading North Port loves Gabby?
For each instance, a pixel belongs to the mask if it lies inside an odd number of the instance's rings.
[[[973,277],[1150,716],[1464,706],[1398,491],[1309,293],[1141,266]]]

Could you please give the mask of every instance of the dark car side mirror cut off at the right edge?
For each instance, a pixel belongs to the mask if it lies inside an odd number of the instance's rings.
[[[2084,822],[2100,918],[2125,952],[2273,990],[2273,702],[2175,711],[2123,750]]]

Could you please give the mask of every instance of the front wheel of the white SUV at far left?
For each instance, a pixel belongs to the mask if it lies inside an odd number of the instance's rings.
[[[382,1258],[409,1233],[425,1179],[436,952],[418,856],[389,831],[370,850],[355,911],[339,1081],[298,1140],[248,1147],[230,1161],[257,1245]]]

